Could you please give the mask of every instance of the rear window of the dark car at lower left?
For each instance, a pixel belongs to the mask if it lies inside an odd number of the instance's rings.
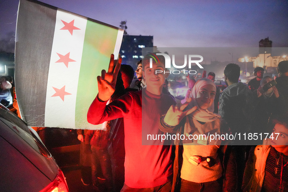
[[[18,116],[0,108],[0,120],[5,123],[12,131],[18,134],[23,140],[25,140],[39,154],[42,154],[46,157],[51,156],[51,154],[38,139],[38,137],[30,131],[30,129]]]

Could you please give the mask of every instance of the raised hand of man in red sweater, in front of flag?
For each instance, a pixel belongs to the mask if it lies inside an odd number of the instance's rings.
[[[101,77],[97,76],[98,81],[98,98],[102,101],[107,101],[115,92],[115,85],[117,75],[121,66],[122,58],[119,54],[118,62],[114,68],[114,55],[111,54],[108,72],[103,69],[101,71]]]

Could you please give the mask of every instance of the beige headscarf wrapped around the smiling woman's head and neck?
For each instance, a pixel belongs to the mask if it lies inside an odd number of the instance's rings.
[[[199,79],[191,91],[190,97],[192,97],[192,101],[188,105],[190,108],[197,106],[197,109],[192,114],[188,115],[188,117],[189,118],[192,117],[192,118],[194,118],[198,121],[201,121],[201,122],[212,122],[212,121],[216,120],[217,118],[221,118],[221,115],[213,113],[214,112],[214,103],[212,103],[208,109],[204,110],[198,106],[198,103],[196,100],[198,91],[205,85],[212,85],[214,87],[214,91],[216,91],[216,85],[212,80],[210,80],[208,78]]]

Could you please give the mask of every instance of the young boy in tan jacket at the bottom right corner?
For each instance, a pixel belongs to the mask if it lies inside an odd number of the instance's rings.
[[[250,150],[243,177],[244,192],[288,191],[288,115],[274,118],[272,124],[272,135],[263,145]]]

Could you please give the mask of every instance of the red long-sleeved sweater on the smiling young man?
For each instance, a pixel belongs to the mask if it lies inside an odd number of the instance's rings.
[[[145,110],[142,110],[142,99],[143,105],[147,105]],[[142,130],[163,134],[158,130],[158,121],[160,115],[175,104],[174,99],[164,94],[156,96],[144,89],[129,92],[109,105],[106,103],[96,97],[88,110],[87,120],[100,124],[124,117],[125,184],[131,188],[152,188],[172,181],[172,146],[142,145]]]

